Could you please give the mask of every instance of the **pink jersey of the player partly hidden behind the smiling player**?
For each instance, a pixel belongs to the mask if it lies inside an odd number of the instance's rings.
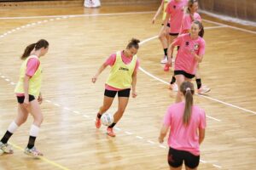
[[[184,34],[184,33],[188,33],[188,30],[190,30],[192,22],[194,20],[199,20],[201,21],[201,16],[198,13],[195,13],[193,15],[193,18],[191,17],[190,14],[184,14],[183,16],[183,21],[182,21],[182,25],[179,31],[179,34]]]

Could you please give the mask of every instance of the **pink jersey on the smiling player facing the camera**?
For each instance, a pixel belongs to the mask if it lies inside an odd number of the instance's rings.
[[[202,37],[193,40],[188,33],[177,37],[173,43],[175,46],[179,46],[174,70],[195,75],[198,62],[192,53],[195,52],[195,54],[203,56],[205,54],[205,40]]]

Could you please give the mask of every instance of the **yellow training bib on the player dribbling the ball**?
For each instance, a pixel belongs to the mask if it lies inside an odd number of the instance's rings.
[[[121,57],[121,52],[116,52],[115,63],[111,68],[108,81],[106,83],[113,88],[131,88],[132,74],[135,69],[136,62],[137,55],[134,55],[131,59],[131,63],[125,65]]]

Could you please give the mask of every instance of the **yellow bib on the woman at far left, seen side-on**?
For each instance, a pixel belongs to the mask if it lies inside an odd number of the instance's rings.
[[[16,94],[24,94],[24,77],[26,74],[26,64],[27,64],[28,59],[32,59],[32,58],[38,59],[38,57],[36,55],[31,55],[28,58],[26,58],[25,61],[23,61],[22,65],[20,67],[20,79],[15,88]],[[40,59],[39,59],[39,61],[40,61]],[[40,94],[41,82],[42,82],[42,68],[41,68],[41,64],[40,64],[38,66],[38,70],[29,79],[28,94],[38,97],[38,95]]]

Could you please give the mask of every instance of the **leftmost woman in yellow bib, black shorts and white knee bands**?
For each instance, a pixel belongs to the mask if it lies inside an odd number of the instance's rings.
[[[48,48],[49,42],[42,39],[27,46],[24,54],[21,56],[21,59],[24,61],[20,67],[20,79],[15,88],[15,94],[18,100],[18,116],[16,116],[14,122],[11,122],[7,132],[3,135],[3,139],[0,141],[0,150],[3,150],[4,153],[13,153],[8,140],[15,133],[15,130],[26,122],[28,113],[31,113],[34,121],[24,152],[30,156],[43,156],[35,148],[34,144],[38,136],[39,127],[43,122],[43,115],[39,106],[43,101],[40,93],[42,68],[39,58],[48,52]]]

